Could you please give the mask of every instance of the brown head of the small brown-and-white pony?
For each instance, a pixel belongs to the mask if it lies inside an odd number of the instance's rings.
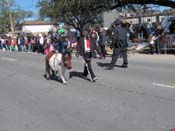
[[[62,54],[62,60],[64,63],[64,66],[67,69],[72,69],[72,56],[71,56],[71,51],[66,50],[65,52],[63,52]]]

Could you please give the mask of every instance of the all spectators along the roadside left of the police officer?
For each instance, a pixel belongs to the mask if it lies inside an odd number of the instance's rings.
[[[89,28],[92,38],[93,57],[105,58],[106,31],[103,27]],[[54,28],[48,33],[23,33],[0,36],[0,50],[16,52],[33,52],[47,54],[49,50],[64,52],[66,48],[75,49],[81,32],[78,30]]]

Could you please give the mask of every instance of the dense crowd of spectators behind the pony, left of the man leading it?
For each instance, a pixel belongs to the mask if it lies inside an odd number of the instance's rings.
[[[0,50],[16,52],[34,52],[46,54],[47,49],[51,46],[58,52],[62,52],[64,46],[72,46],[76,42],[75,33],[65,35],[64,29],[53,32],[39,34],[15,34],[12,36],[0,36]]]

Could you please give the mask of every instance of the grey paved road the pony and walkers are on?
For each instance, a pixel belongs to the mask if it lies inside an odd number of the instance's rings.
[[[67,85],[47,81],[44,56],[0,52],[0,131],[169,131],[175,128],[175,56],[129,55],[129,68],[81,78],[73,58]],[[117,64],[121,64],[121,60]]]

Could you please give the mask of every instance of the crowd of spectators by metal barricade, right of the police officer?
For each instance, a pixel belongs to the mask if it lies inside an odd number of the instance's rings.
[[[143,48],[136,48],[143,50],[146,45],[150,48],[151,54],[159,54],[165,50],[175,50],[175,19],[168,19],[165,28],[162,23],[152,23],[150,19],[145,24],[132,25],[128,22],[129,29],[129,45],[140,45]],[[141,45],[143,43],[145,45]]]

